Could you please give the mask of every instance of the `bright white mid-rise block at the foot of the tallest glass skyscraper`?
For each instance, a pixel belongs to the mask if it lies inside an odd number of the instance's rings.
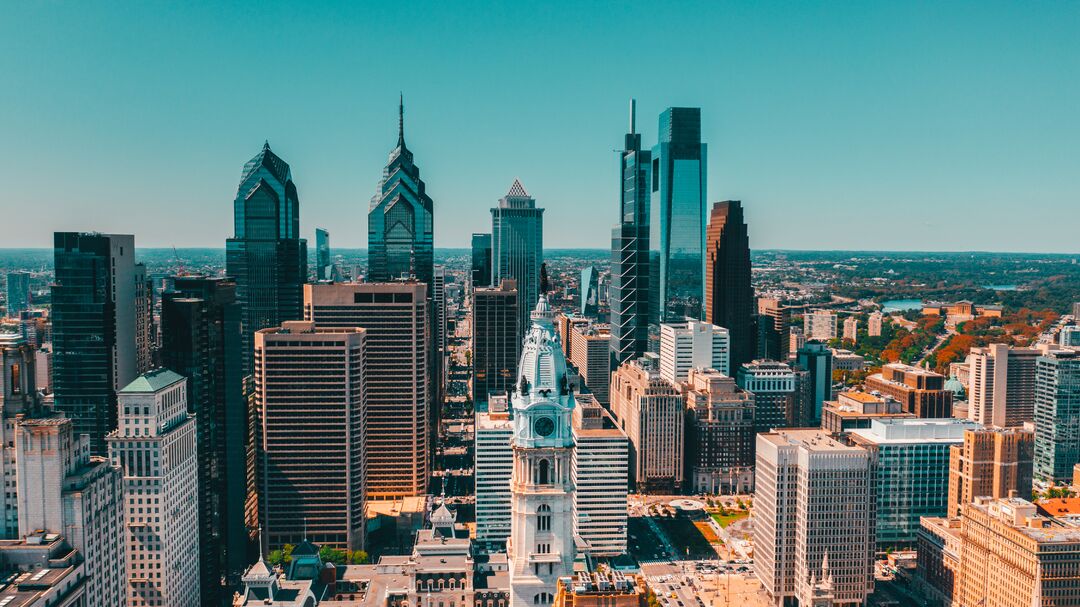
[[[691,368],[731,374],[731,336],[710,323],[687,321],[660,325],[660,377],[673,386],[686,381]]]

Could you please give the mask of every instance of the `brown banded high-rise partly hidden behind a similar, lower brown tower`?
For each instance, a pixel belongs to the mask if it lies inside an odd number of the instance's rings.
[[[368,499],[428,490],[435,432],[428,305],[428,285],[415,281],[305,286],[305,319],[316,329],[366,329]]]

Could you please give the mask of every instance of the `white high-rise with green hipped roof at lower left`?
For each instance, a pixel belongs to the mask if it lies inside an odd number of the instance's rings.
[[[187,379],[143,374],[117,394],[109,458],[124,470],[127,606],[199,604],[199,478]]]

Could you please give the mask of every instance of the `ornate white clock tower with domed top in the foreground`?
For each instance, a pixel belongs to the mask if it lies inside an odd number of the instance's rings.
[[[514,467],[507,543],[511,607],[546,606],[573,574],[573,394],[548,299],[540,296],[513,388]]]

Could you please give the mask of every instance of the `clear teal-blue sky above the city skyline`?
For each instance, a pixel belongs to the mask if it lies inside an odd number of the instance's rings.
[[[366,246],[405,132],[435,245],[519,177],[549,247],[606,247],[630,97],[700,106],[755,248],[1080,251],[1077,2],[8,2],[0,246],[222,246],[244,162]]]

